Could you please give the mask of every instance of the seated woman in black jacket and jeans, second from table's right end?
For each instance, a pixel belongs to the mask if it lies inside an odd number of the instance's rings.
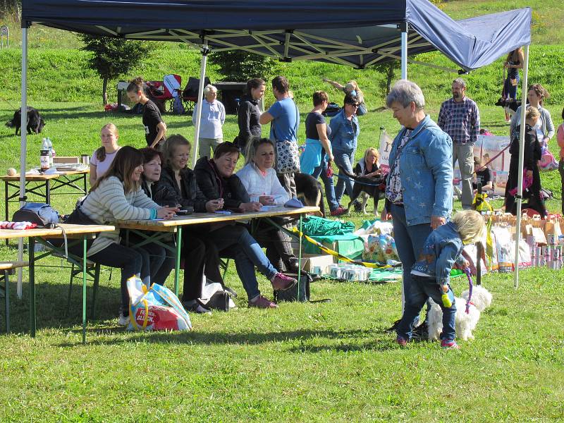
[[[218,145],[213,159],[202,157],[194,166],[198,186],[208,199],[223,198],[223,209],[257,212],[262,204],[250,201],[245,186],[234,174],[238,159],[239,149],[232,142]],[[216,243],[220,253],[223,250],[235,253],[235,266],[247,292],[249,307],[276,307],[274,302],[261,295],[255,266],[269,278],[275,290],[286,290],[295,285],[294,278],[283,275],[274,268],[245,226],[235,222],[220,222],[220,226],[216,226],[206,236]]]

